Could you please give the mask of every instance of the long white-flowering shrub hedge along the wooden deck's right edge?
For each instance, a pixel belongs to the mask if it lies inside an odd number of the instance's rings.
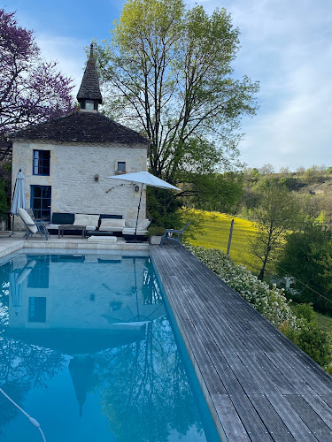
[[[301,320],[292,313],[290,301],[287,301],[282,289],[276,288],[275,285],[270,288],[264,281],[260,281],[247,271],[243,265],[235,264],[218,248],[194,247],[188,244],[186,247],[275,327],[292,329],[301,327]]]

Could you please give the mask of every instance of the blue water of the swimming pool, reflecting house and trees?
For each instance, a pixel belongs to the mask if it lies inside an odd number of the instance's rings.
[[[220,440],[149,256],[32,251],[0,285],[0,387],[47,442]],[[2,394],[0,440],[42,441]]]

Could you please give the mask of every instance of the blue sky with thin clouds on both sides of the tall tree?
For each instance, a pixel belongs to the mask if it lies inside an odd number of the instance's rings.
[[[81,83],[84,46],[108,38],[122,0],[0,0],[35,30],[43,57]],[[259,80],[259,110],[243,118],[240,159],[249,167],[332,165],[331,0],[188,0],[225,7],[241,31],[235,75]],[[76,89],[75,89],[76,91]]]

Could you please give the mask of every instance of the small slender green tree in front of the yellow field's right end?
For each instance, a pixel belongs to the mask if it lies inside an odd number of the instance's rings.
[[[261,181],[257,193],[259,203],[251,210],[251,217],[257,221],[258,232],[251,241],[251,253],[262,263],[262,280],[266,265],[275,260],[282,248],[285,233],[298,227],[300,210],[295,196],[275,179]]]

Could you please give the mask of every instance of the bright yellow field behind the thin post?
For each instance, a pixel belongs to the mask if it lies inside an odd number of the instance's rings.
[[[204,218],[204,231],[200,236],[189,243],[193,246],[204,248],[221,248],[225,253],[228,249],[229,229],[234,218],[234,229],[230,247],[230,257],[237,264],[244,264],[249,271],[258,273],[259,260],[249,252],[250,238],[255,234],[254,223],[239,217],[231,217],[218,212],[199,211],[200,217]]]

